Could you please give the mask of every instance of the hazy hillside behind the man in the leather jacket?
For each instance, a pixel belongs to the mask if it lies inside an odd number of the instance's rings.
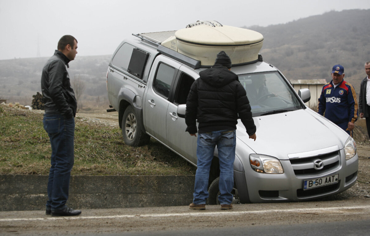
[[[88,107],[108,108],[105,76],[110,58],[111,55],[78,55],[69,64],[71,83],[76,79],[85,82],[81,101]],[[32,95],[41,92],[41,71],[47,60],[48,57],[0,60],[0,99],[30,104]]]

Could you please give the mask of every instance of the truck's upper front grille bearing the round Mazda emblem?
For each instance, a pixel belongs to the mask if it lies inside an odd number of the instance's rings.
[[[324,167],[320,170],[314,168],[314,161],[321,160]],[[307,158],[290,159],[290,164],[296,176],[319,175],[339,167],[339,151]]]

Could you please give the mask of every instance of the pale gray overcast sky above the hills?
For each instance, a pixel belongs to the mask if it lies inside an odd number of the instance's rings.
[[[77,38],[77,57],[105,55],[132,33],[179,30],[197,20],[268,26],[344,9],[370,9],[370,1],[0,0],[0,60],[49,57],[64,34]]]

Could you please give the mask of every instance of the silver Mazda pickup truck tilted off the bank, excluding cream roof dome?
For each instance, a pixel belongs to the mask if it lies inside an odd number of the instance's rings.
[[[111,110],[118,111],[127,145],[146,145],[152,137],[196,166],[196,138],[185,132],[185,103],[192,83],[207,66],[199,58],[162,45],[174,35],[175,31],[133,34],[122,41],[107,71],[108,98]],[[261,55],[233,65],[231,70],[246,89],[258,137],[255,142],[249,139],[239,122],[234,162],[236,201],[311,200],[354,185],[356,144],[346,132],[305,105],[310,100],[308,89],[297,94]],[[209,204],[218,203],[217,156],[216,150]]]

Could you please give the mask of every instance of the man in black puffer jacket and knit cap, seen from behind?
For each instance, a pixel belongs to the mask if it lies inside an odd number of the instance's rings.
[[[246,92],[231,72],[231,59],[224,52],[217,54],[212,68],[199,73],[186,101],[186,131],[196,136],[199,122],[196,155],[194,199],[190,209],[204,210],[208,198],[209,169],[215,147],[218,149],[220,179],[218,196],[222,210],[232,209],[233,163],[235,159],[235,129],[238,115],[249,138],[256,140],[256,126]]]

